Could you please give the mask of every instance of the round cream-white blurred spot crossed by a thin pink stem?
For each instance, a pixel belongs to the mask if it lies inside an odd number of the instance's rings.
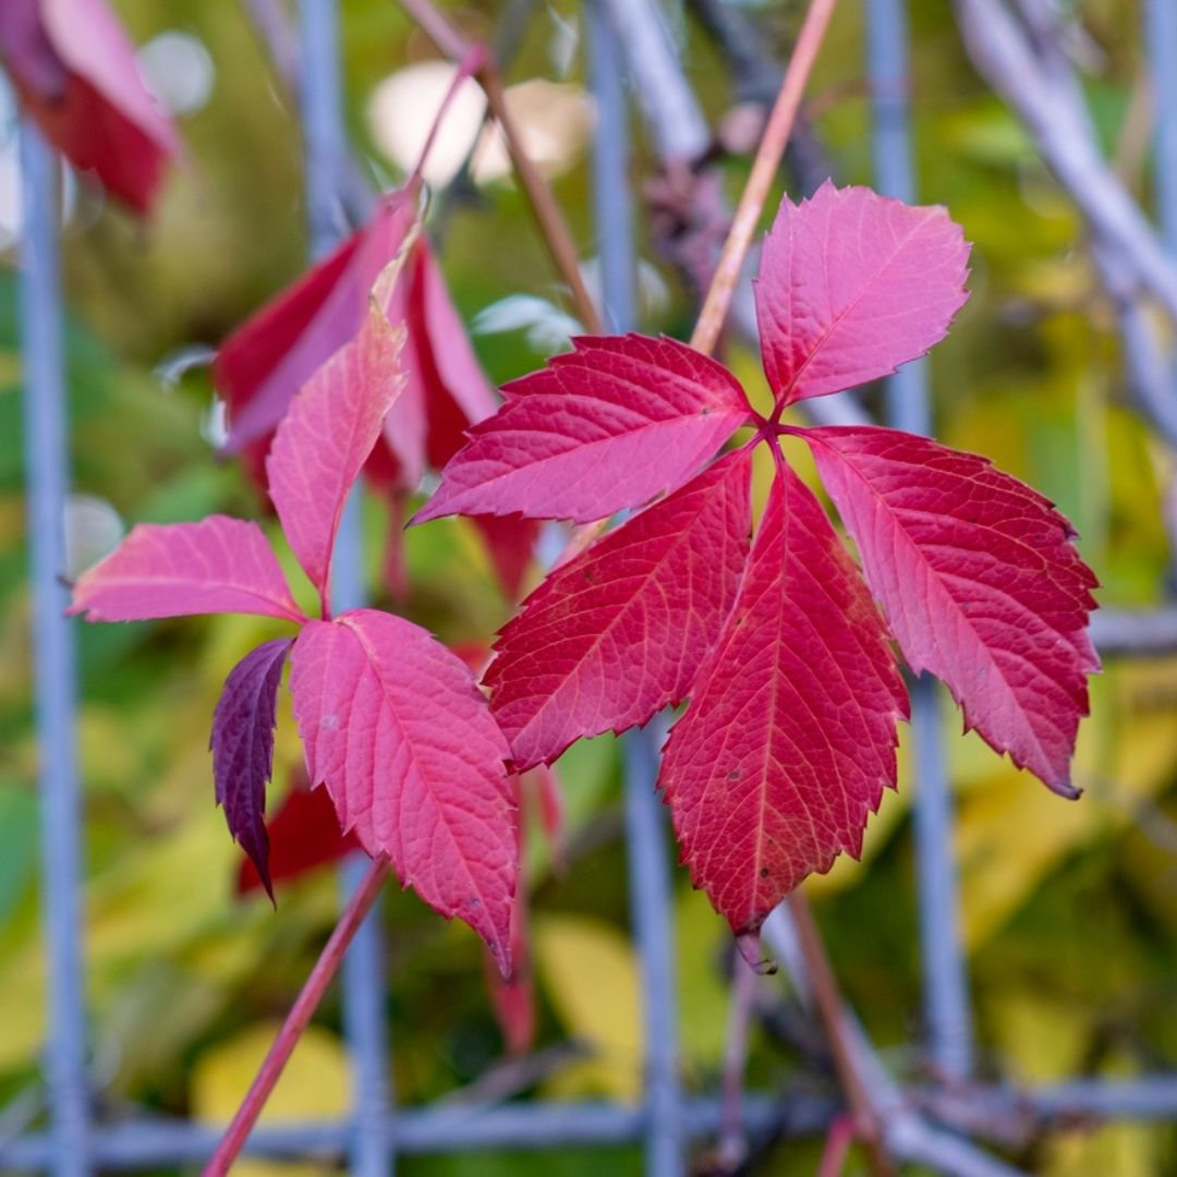
[[[457,72],[445,61],[421,61],[390,74],[372,92],[367,109],[372,139],[401,171],[417,167]],[[485,113],[486,97],[478,82],[467,78],[454,94],[425,161],[423,174],[430,187],[443,188],[458,174]]]

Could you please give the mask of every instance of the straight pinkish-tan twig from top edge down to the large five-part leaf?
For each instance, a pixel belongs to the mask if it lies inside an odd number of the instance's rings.
[[[752,161],[752,172],[744,186],[744,194],[736,210],[736,218],[724,244],[724,252],[719,258],[719,265],[711,279],[711,288],[704,299],[703,310],[699,312],[698,322],[696,322],[694,332],[691,335],[691,346],[697,347],[700,352],[714,351],[716,344],[719,341],[736,282],[739,280],[744,259],[752,244],[752,234],[756,232],[764,201],[769,197],[772,180],[785,154],[785,146],[793,129],[793,120],[797,118],[797,108],[800,106],[805,82],[809,80],[813,61],[822,47],[836,2],[837,0],[812,0],[809,12],[805,14],[805,24],[802,25],[793,55],[789,60],[789,68],[780,84],[780,94],[772,108],[772,114],[769,115],[764,138],[760,140],[756,159]]]

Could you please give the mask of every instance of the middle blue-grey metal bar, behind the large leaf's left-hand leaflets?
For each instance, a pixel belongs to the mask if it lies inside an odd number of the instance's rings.
[[[596,0],[585,5],[585,15],[590,80],[599,119],[593,141],[593,220],[604,311],[611,330],[627,331],[636,324],[637,268],[629,194],[629,112],[617,42]],[[630,920],[641,963],[645,1169],[649,1177],[678,1177],[684,1171],[685,1137],[678,1077],[673,896],[665,814],[654,789],[658,743],[653,731],[625,737],[625,826]]]

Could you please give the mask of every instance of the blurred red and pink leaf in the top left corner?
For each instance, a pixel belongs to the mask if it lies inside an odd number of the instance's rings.
[[[147,212],[179,154],[134,48],[102,0],[4,0],[0,52],[29,115],[74,167]]]

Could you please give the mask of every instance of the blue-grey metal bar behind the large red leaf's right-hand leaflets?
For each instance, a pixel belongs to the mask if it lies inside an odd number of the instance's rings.
[[[1169,0],[1171,2],[1171,0]],[[907,104],[906,0],[865,0],[866,53],[873,117],[875,179],[884,195],[915,199]],[[927,368],[902,367],[886,384],[887,419],[910,433],[932,432]],[[926,674],[911,690],[917,793],[915,804],[924,1016],[936,1065],[951,1076],[972,1069],[972,1022],[960,944],[952,797],[940,740],[939,697]]]

